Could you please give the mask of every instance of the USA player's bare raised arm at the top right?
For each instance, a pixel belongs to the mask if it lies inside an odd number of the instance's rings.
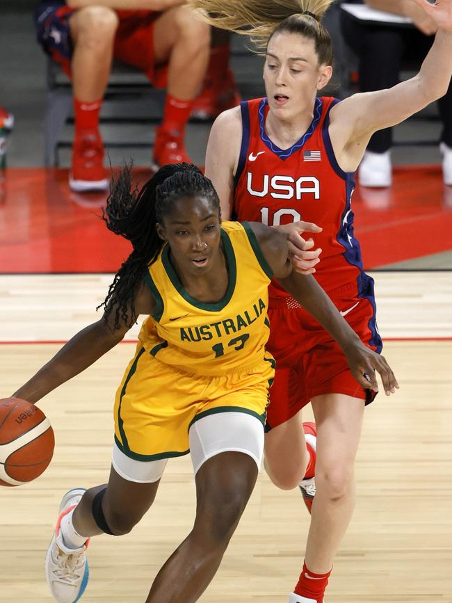
[[[437,25],[438,31],[419,73],[387,90],[360,93],[344,99],[331,110],[330,135],[338,159],[344,150],[341,167],[347,165],[347,145],[366,146],[373,132],[394,126],[441,98],[449,88],[452,75],[452,0],[413,0]],[[362,152],[360,152],[361,158]],[[353,163],[353,161],[352,161]],[[359,161],[357,161],[359,163]]]

